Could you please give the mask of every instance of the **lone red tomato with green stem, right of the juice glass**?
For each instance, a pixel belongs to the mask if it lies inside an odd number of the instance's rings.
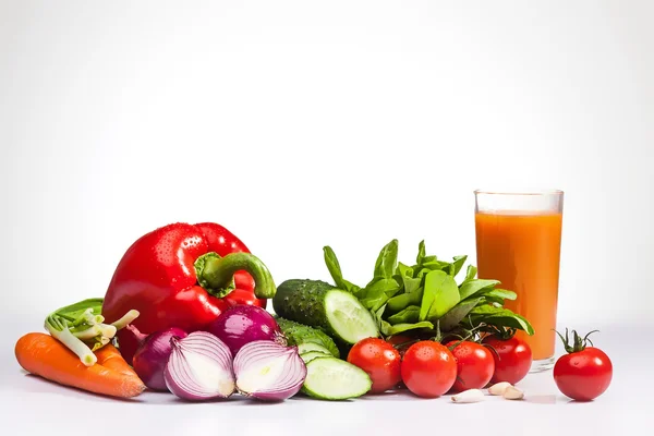
[[[592,334],[593,331],[591,331]],[[560,334],[567,354],[561,355],[554,365],[554,380],[559,390],[567,397],[578,401],[591,401],[600,397],[610,385],[613,363],[606,353],[591,346],[588,334],[583,339],[572,330],[573,344]]]

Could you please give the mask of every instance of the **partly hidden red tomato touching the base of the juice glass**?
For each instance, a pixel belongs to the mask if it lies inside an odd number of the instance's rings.
[[[511,385],[523,379],[532,364],[532,351],[529,344],[517,337],[500,338],[492,335],[484,338],[482,343],[491,347],[495,360],[495,372],[492,383],[508,382]]]

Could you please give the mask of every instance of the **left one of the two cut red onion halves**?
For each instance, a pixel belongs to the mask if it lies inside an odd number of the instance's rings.
[[[172,393],[199,401],[228,398],[234,392],[232,354],[225,342],[206,331],[170,341],[172,353],[164,377]]]

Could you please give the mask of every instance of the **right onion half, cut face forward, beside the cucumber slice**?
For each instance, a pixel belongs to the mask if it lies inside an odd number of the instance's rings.
[[[239,392],[258,400],[291,398],[306,378],[306,365],[298,348],[269,340],[243,346],[234,358],[233,367]]]

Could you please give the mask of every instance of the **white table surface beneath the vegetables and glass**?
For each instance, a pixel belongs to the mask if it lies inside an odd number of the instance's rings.
[[[583,326],[571,327],[585,331]],[[480,403],[455,404],[449,396],[427,400],[409,393],[388,393],[343,402],[293,398],[268,404],[238,396],[223,402],[187,403],[169,393],[154,392],[117,400],[62,387],[28,375],[19,366],[13,355],[15,340],[38,328],[9,323],[0,342],[1,434],[654,434],[652,329],[647,334],[642,325],[600,328],[595,344],[611,358],[614,379],[602,397],[588,403],[562,396],[552,371],[547,371],[530,374],[519,384],[525,392],[523,401],[486,397]],[[559,348],[557,353],[560,352]]]

